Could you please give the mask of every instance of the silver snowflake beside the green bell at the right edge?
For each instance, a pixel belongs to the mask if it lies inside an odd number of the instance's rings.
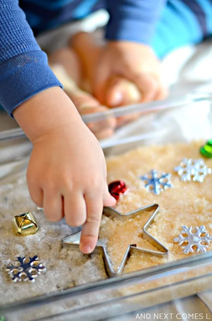
[[[174,171],[178,173],[183,182],[193,181],[200,183],[204,181],[207,175],[212,173],[212,170],[205,165],[201,158],[196,160],[183,158]]]

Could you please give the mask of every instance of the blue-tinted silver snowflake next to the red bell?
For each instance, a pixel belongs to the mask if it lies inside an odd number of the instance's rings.
[[[151,170],[149,174],[140,176],[140,179],[144,182],[147,191],[157,195],[172,187],[170,183],[171,174],[169,173]]]

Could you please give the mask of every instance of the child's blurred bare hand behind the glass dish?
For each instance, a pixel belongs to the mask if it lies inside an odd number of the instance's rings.
[[[159,61],[148,46],[114,41],[103,49],[94,74],[93,93],[100,103],[118,106],[121,104],[121,93],[108,86],[113,76],[134,83],[140,90],[141,102],[164,99],[167,95],[160,80]],[[114,93],[112,97],[111,92]]]

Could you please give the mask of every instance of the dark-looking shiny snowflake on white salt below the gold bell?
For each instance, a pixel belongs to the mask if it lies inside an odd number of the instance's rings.
[[[45,267],[41,264],[38,257],[35,255],[29,257],[17,257],[14,264],[6,267],[6,272],[8,272],[12,281],[31,281],[34,282],[34,278],[37,277],[40,272],[45,271]]]

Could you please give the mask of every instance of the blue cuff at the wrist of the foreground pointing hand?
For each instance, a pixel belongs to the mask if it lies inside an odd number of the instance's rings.
[[[43,51],[31,51],[0,63],[0,104],[12,116],[22,102],[62,84],[48,67]]]

